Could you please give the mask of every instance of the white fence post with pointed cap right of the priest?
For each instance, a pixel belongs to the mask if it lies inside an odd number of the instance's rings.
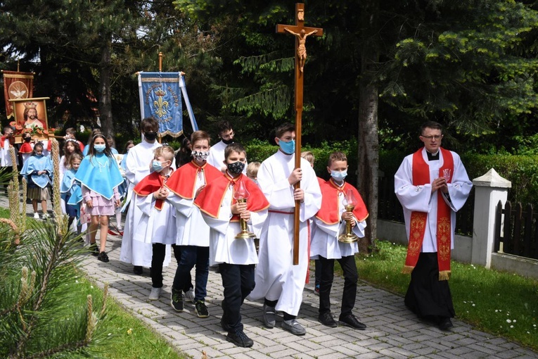
[[[501,177],[493,168],[473,180],[475,186],[475,211],[473,220],[473,250],[471,263],[489,268],[495,240],[495,209],[504,204],[512,182]]]

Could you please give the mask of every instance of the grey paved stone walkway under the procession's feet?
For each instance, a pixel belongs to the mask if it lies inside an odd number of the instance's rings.
[[[0,206],[8,208],[7,199],[0,194]],[[41,210],[41,208],[39,208]],[[28,206],[28,213],[32,213]],[[134,275],[132,265],[122,263],[120,237],[108,237],[109,263],[88,256],[82,269],[88,277],[103,287],[110,284],[110,294],[127,310],[152,327],[172,346],[202,358],[538,358],[538,353],[514,344],[507,339],[479,332],[459,320],[454,328],[442,332],[421,322],[404,306],[401,296],[377,289],[359,281],[354,313],[368,328],[364,331],[348,327],[328,328],[317,322],[319,297],[314,295],[314,278],[305,287],[299,322],[306,327],[305,336],[294,336],[281,329],[282,318],[276,327],[262,325],[262,303],[245,301],[241,314],[245,333],[254,341],[252,348],[238,348],[226,341],[220,327],[222,316],[222,285],[220,275],[210,271],[206,304],[210,317],[200,319],[191,303],[184,313],[170,306],[170,288],[175,261],[165,268],[165,287],[160,301],[148,301],[151,289],[149,270]],[[313,276],[313,270],[311,271]],[[194,276],[194,272],[193,272]],[[335,278],[331,293],[333,313],[340,313],[343,279]]]

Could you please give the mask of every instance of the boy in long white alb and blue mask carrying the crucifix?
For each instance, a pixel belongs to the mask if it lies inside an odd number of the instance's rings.
[[[316,173],[301,158],[295,167],[295,126],[286,123],[276,129],[280,147],[262,162],[258,185],[269,200],[269,215],[260,236],[260,263],[256,267],[252,299],[264,298],[264,324],[272,328],[276,310],[283,312],[282,328],[295,335],[306,334],[295,319],[302,302],[309,262],[309,219],[321,208],[321,191]],[[300,188],[293,185],[300,182]],[[293,265],[293,213],[300,201],[299,264]]]

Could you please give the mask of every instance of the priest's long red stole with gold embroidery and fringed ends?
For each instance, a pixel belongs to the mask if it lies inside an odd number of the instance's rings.
[[[431,183],[430,166],[425,162],[422,156],[422,150],[419,149],[413,154],[413,185],[422,186]],[[448,150],[440,148],[442,153],[443,165],[439,169],[440,177],[443,170],[448,169],[451,172],[450,183],[454,176],[454,158]],[[450,277],[450,244],[451,244],[451,209],[443,199],[442,192],[437,190],[437,263],[439,265],[439,280],[448,280]],[[411,222],[409,224],[409,246],[407,247],[407,256],[405,260],[404,273],[411,273],[418,261],[421,253],[424,233],[428,225],[428,213],[411,212]]]

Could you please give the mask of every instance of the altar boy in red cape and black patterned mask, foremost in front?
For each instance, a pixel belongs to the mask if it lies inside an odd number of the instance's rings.
[[[267,218],[269,202],[259,187],[242,174],[246,151],[233,143],[224,150],[226,172],[207,184],[194,204],[202,211],[210,226],[210,265],[219,264],[224,286],[221,325],[228,332],[226,340],[236,346],[250,347],[254,343],[243,332],[241,305],[254,289],[254,268],[258,263],[254,239],[236,239],[241,232],[240,219],[248,222],[257,236]],[[248,191],[246,203],[238,203],[234,194],[243,187]]]

